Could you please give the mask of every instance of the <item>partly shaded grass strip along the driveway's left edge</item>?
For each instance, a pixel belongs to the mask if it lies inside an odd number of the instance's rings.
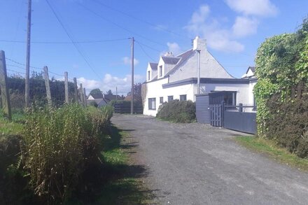
[[[153,204],[154,195],[142,181],[146,169],[130,161],[130,145],[127,132],[111,127],[111,136],[106,138],[102,157],[106,163],[109,180],[102,188],[97,204]]]

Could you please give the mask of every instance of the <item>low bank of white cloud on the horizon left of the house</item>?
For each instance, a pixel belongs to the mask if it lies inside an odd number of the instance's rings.
[[[102,92],[107,92],[111,90],[113,94],[116,94],[116,87],[118,87],[118,94],[123,94],[126,96],[127,92],[130,92],[132,77],[131,75],[126,75],[124,78],[119,78],[117,76],[112,76],[106,73],[102,81],[89,80],[85,78],[78,78],[78,83],[83,83],[87,94],[95,88],[99,88]],[[144,81],[144,76],[134,75],[134,83],[142,83]]]

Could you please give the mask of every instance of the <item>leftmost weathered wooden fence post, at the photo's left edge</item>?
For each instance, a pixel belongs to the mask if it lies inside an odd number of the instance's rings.
[[[6,75],[6,55],[3,50],[0,50],[0,89],[3,112],[8,120],[12,120],[10,95],[8,94],[8,76]]]

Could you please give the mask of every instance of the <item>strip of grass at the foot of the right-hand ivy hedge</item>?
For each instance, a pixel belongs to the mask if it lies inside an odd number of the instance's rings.
[[[265,154],[282,164],[308,171],[308,159],[297,157],[297,155],[290,153],[286,148],[277,146],[272,140],[254,136],[237,136],[235,141],[250,150]]]

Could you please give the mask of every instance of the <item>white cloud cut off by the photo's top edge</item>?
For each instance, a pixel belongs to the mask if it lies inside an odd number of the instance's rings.
[[[270,0],[225,0],[228,6],[244,15],[258,15],[262,17],[276,15],[278,9]]]

